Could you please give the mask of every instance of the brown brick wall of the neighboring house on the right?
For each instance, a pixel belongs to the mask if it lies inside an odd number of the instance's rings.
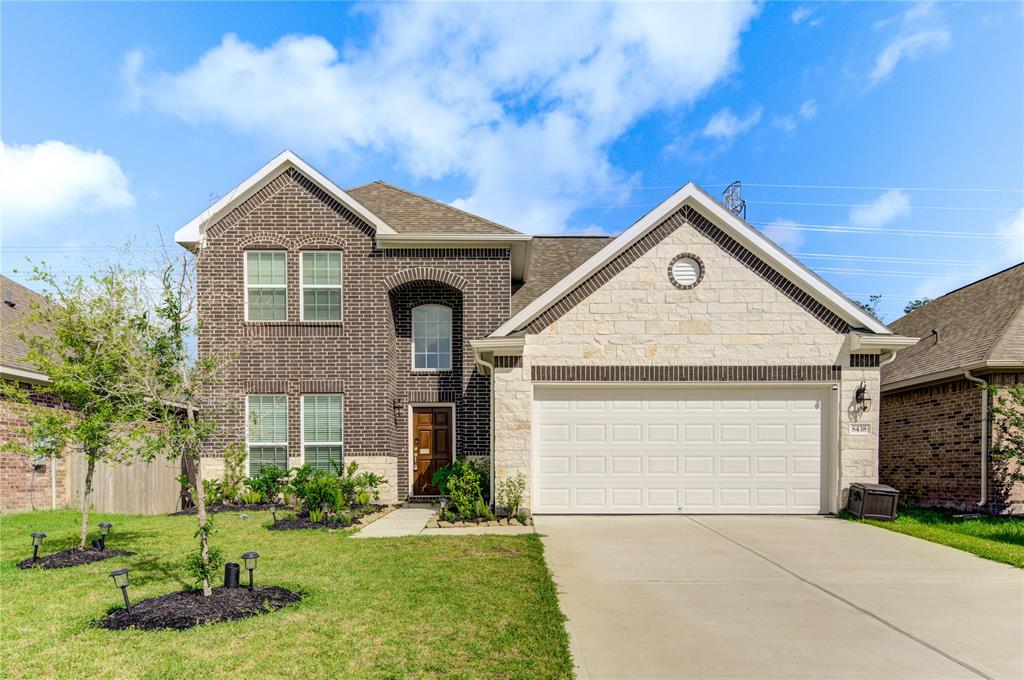
[[[991,384],[1024,382],[1024,374],[979,376]],[[966,379],[883,394],[879,480],[910,505],[976,510],[981,495],[981,389]],[[989,424],[991,441],[991,424]],[[988,469],[988,510],[1024,510],[1024,484],[1008,464]]]

